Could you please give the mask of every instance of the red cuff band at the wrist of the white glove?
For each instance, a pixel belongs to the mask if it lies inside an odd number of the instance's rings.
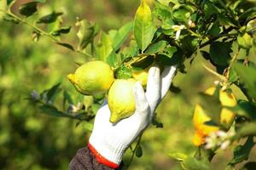
[[[102,163],[103,165],[106,165],[108,167],[111,167],[113,169],[118,168],[119,165],[116,163],[113,163],[112,161],[108,161],[105,157],[103,157],[99,152],[97,152],[97,150],[88,142],[87,144],[90,152],[93,154],[93,156],[96,157],[96,160],[99,163]]]

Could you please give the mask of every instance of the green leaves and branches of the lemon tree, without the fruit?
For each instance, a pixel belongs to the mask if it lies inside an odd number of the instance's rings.
[[[137,8],[134,20],[128,21],[118,30],[102,31],[98,25],[78,18],[76,26],[79,27],[79,42],[76,43],[65,39],[71,27],[62,26],[62,12],[52,10],[49,14],[37,15],[41,6],[44,6],[44,1],[20,5],[20,14],[13,12],[15,1],[0,2],[0,17],[32,27],[34,42],[38,42],[41,36],[46,36],[63,48],[83,54],[84,60],[102,60],[113,68],[116,78],[129,78],[133,70],[144,69],[153,62],[160,67],[178,65],[178,71],[186,73],[186,62],[189,60],[190,64],[194,63],[201,54],[207,65],[216,70],[205,66],[218,76],[220,88],[229,93],[230,87],[236,86],[246,98],[238,99],[238,104],[234,107],[225,107],[236,111],[236,122],[230,128],[234,130],[234,134],[225,133],[221,144],[215,144],[212,148],[200,146],[194,156],[172,154],[172,157],[181,162],[183,169],[209,169],[213,156],[224,142],[235,144],[237,140],[247,139],[245,144],[236,146],[227,168],[235,168],[236,164],[248,159],[256,134],[256,67],[255,55],[253,56],[256,46],[256,8],[253,1],[158,0],[154,1],[151,9],[147,1],[143,0]],[[60,84],[41,94],[33,92],[30,97],[32,103],[38,105],[44,114],[69,117],[91,125],[104,95],[82,98],[85,98],[84,101],[75,105],[69,92],[61,89]],[[214,107],[217,106],[214,104],[219,103],[216,96],[201,95],[200,98],[201,105],[207,112],[217,110]],[[55,99],[63,101],[62,107],[58,105],[60,103],[55,104]],[[217,124],[220,122],[219,116],[212,113],[207,116]],[[156,120],[154,125],[162,127]],[[216,138],[221,139],[220,136]],[[131,160],[127,167],[134,155],[143,155],[140,141],[141,136],[135,149],[131,148]],[[245,168],[248,166],[250,165],[246,164]]]

